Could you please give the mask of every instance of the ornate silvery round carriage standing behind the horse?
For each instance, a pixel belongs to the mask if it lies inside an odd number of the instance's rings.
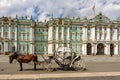
[[[55,54],[50,56],[63,70],[85,70],[85,61],[69,47],[58,47]]]

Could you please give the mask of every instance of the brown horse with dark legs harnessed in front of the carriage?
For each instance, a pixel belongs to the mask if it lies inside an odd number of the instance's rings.
[[[34,70],[36,70],[36,64],[38,62],[37,55],[35,55],[35,54],[23,55],[23,54],[17,54],[15,52],[15,53],[10,54],[9,63],[12,63],[12,61],[14,59],[16,59],[18,61],[18,63],[20,64],[20,71],[23,70],[22,63],[29,63],[31,61],[34,62]]]

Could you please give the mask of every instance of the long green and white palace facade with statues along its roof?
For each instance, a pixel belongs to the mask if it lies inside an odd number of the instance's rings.
[[[60,46],[80,55],[119,55],[120,20],[101,12],[92,19],[53,18],[34,21],[32,17],[0,18],[0,53],[54,54]]]

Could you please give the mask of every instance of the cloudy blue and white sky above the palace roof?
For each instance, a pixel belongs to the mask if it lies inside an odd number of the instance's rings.
[[[92,10],[95,4],[95,13]],[[0,0],[0,17],[33,17],[45,21],[54,18],[90,19],[102,12],[111,20],[120,19],[120,0]]]

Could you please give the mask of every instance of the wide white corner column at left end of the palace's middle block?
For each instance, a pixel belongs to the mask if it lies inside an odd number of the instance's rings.
[[[53,54],[53,44],[52,44],[52,26],[48,28],[48,54]]]

